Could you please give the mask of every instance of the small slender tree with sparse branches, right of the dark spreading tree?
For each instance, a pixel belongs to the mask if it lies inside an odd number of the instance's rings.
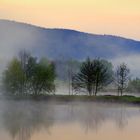
[[[129,80],[130,70],[125,63],[120,64],[116,69],[116,84],[118,87],[118,95],[123,95],[124,89],[126,89]]]

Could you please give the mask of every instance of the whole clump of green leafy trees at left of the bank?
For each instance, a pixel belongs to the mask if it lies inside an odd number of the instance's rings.
[[[39,95],[55,92],[55,66],[41,59],[21,53],[14,58],[3,73],[6,93],[14,95]]]

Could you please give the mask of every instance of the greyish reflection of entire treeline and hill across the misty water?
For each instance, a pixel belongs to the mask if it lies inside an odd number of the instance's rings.
[[[75,123],[85,133],[98,132],[108,122],[122,131],[131,117],[140,116],[138,108],[101,103],[6,101],[1,110],[0,124],[13,140],[30,140],[42,130],[51,134],[53,126]]]

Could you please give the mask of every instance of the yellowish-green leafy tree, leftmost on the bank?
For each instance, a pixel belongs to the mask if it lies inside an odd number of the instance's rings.
[[[26,75],[23,72],[21,63],[17,58],[14,58],[9,63],[3,75],[3,87],[7,93],[22,93],[22,84],[23,80],[26,79]]]

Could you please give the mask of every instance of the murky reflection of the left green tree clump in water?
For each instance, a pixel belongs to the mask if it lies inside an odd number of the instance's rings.
[[[50,110],[51,109],[51,110]],[[4,126],[13,140],[30,140],[31,136],[53,125],[53,108],[41,103],[8,103],[3,112]]]

